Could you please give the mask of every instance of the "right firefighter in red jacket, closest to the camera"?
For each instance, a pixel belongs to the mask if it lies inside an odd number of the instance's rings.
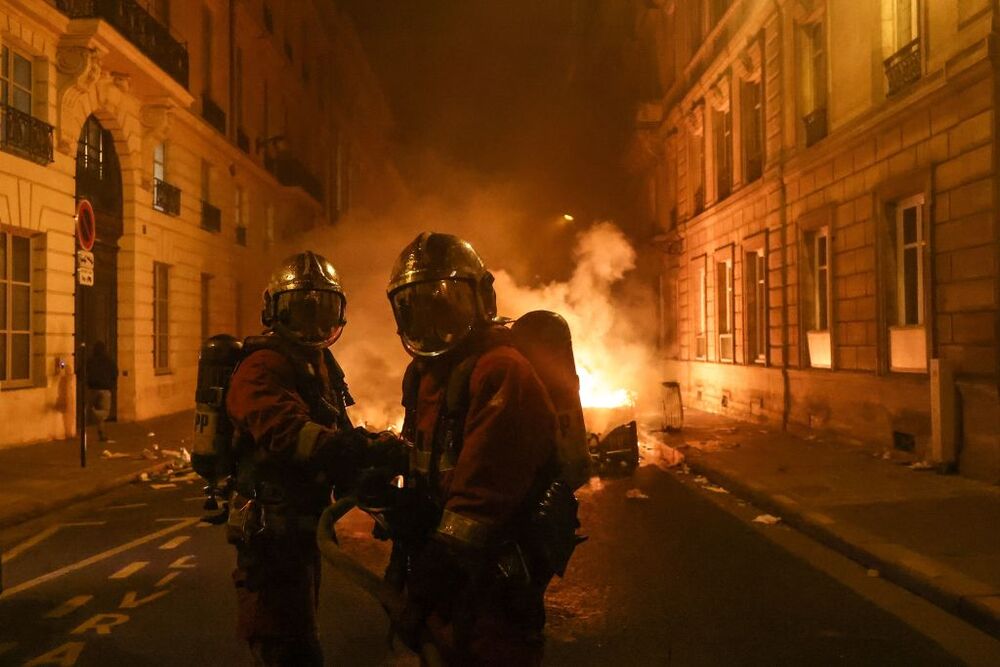
[[[414,358],[403,398],[411,467],[437,510],[403,567],[397,627],[448,664],[539,664],[552,572],[533,562],[521,533],[553,474],[552,403],[497,324],[493,276],[467,242],[418,236],[388,295]]]

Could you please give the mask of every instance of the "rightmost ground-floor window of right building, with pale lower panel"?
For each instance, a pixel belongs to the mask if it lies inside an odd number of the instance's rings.
[[[895,289],[890,295],[889,347],[890,367],[895,371],[927,370],[923,209],[922,195],[901,201],[890,225]]]

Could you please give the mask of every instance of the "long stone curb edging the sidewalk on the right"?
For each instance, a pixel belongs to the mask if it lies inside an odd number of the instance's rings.
[[[685,463],[691,472],[704,475],[712,483],[725,487],[731,493],[752,502],[762,510],[779,515],[781,520],[792,528],[865,567],[877,569],[883,579],[927,599],[983,632],[1000,639],[1000,616],[987,605],[940,586],[901,563],[888,560],[849,541],[830,528],[811,520],[801,509],[783,503],[767,491],[754,488],[729,473],[722,472],[690,456],[685,457]]]

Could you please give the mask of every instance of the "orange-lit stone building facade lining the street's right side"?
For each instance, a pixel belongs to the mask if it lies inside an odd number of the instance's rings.
[[[1000,481],[995,3],[639,6],[667,378]]]

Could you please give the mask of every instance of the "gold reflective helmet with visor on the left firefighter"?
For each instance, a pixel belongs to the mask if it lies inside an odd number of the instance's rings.
[[[346,315],[347,298],[337,269],[307,250],[288,257],[271,274],[260,319],[290,342],[319,350],[340,338]]]

